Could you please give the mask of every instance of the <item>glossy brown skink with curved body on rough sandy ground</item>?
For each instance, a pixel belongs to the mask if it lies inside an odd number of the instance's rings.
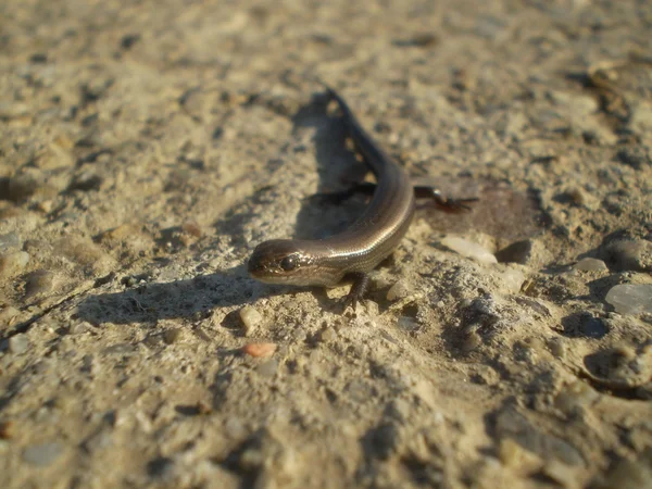
[[[349,137],[376,176],[373,198],[364,213],[341,234],[319,239],[273,239],[260,243],[249,259],[249,274],[263,283],[333,287],[351,279],[346,302],[353,305],[368,286],[367,274],[397,248],[414,216],[415,188],[405,171],[383,151],[361,126],[347,102],[333,89]],[[465,210],[466,200],[449,200],[429,187],[418,197],[435,199],[442,209]]]

